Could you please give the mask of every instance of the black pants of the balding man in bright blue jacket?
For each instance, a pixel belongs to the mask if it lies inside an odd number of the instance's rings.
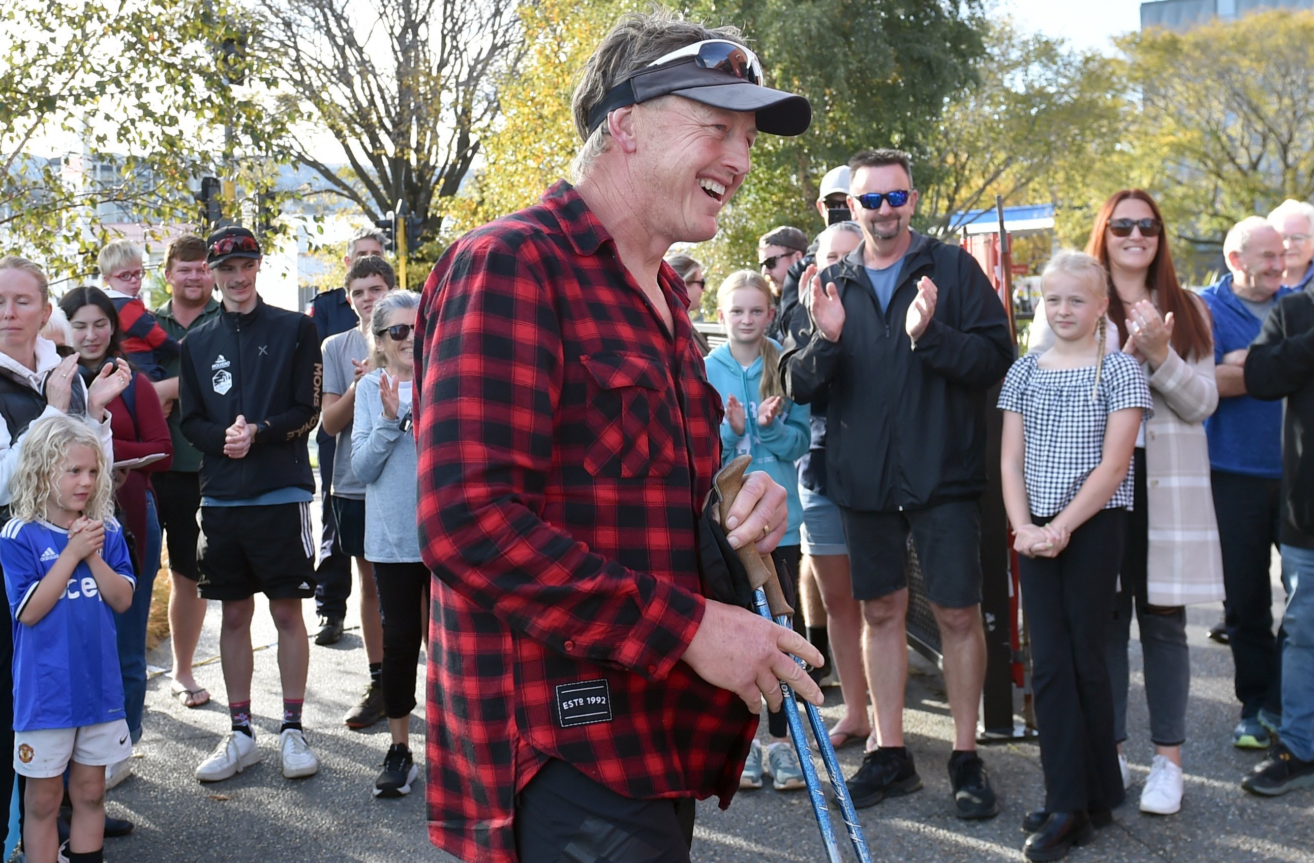
[[[1227,588],[1227,640],[1236,666],[1240,715],[1282,712],[1281,629],[1273,636],[1273,588],[1268,577],[1282,518],[1282,481],[1215,470],[1214,510]]]

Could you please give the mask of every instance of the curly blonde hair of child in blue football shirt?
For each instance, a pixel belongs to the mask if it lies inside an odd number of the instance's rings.
[[[96,468],[100,470],[83,515],[102,520],[114,515],[113,470],[96,432],[79,419],[50,416],[33,423],[22,439],[18,466],[9,482],[9,511],[13,518],[22,521],[46,518],[46,500],[55,489],[68,451],[78,444],[96,453]]]

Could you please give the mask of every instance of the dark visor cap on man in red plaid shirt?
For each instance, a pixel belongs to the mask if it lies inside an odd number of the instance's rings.
[[[770,135],[802,135],[812,123],[812,105],[803,96],[752,84],[728,72],[696,66],[692,59],[644,68],[616,84],[589,112],[590,134],[607,114],[658,96],[683,96],[724,110],[757,114],[757,130]]]

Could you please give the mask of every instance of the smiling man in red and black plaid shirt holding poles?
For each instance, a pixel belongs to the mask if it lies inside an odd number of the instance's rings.
[[[434,570],[430,838],[464,860],[687,862],[803,638],[699,588],[720,464],[671,243],[711,239],[758,131],[807,129],[733,29],[623,18],[574,95],[577,185],[453,244],[420,303],[419,525]],[[727,527],[767,552],[786,494]],[[569,847],[569,855],[562,856]]]

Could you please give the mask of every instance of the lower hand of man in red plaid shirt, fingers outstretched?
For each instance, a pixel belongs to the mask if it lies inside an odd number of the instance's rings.
[[[698,676],[744,699],[754,713],[762,711],[762,696],[770,709],[781,708],[781,680],[820,707],[821,690],[788,654],[803,657],[815,667],[825,662],[821,653],[792,629],[746,608],[708,599],[703,621],[681,658]]]

